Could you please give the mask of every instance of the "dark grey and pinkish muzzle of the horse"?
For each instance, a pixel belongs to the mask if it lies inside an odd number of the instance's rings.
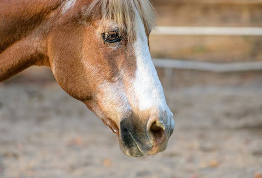
[[[136,117],[120,122],[120,147],[128,156],[155,155],[166,149],[174,130],[173,114],[168,118],[150,117],[145,123]]]

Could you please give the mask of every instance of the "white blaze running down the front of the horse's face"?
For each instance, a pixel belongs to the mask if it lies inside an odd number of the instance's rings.
[[[145,26],[138,12],[136,12],[135,33],[136,71],[132,90],[136,103],[132,104],[135,104],[140,111],[155,108],[160,112],[165,112],[168,119],[164,123],[174,126],[173,114],[166,104],[163,87],[150,55]],[[163,113],[159,114],[162,115]]]

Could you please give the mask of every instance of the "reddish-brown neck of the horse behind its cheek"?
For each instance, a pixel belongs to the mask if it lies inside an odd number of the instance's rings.
[[[61,2],[0,1],[0,82],[32,65],[49,65],[44,54],[47,27],[43,23]]]

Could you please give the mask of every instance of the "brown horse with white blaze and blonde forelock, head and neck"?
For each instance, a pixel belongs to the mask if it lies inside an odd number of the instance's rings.
[[[149,0],[1,0],[0,81],[50,66],[132,157],[165,150],[173,114],[151,60]]]

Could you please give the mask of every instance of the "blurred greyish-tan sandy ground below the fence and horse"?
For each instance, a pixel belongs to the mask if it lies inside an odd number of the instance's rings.
[[[43,74],[0,84],[0,177],[262,177],[261,74],[176,73],[187,84],[164,86],[174,134],[142,158]]]

